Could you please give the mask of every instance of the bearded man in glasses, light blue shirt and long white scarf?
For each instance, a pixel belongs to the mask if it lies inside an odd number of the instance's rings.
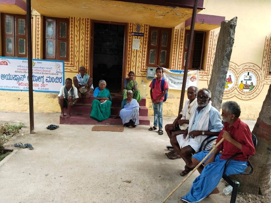
[[[223,127],[220,113],[212,107],[210,90],[200,89],[197,102],[198,106],[189,119],[188,130],[170,139],[170,143],[186,163],[185,170],[180,173],[181,176],[195,168],[191,159],[192,154],[199,151],[202,141],[207,136],[218,136]],[[211,147],[212,143],[207,146],[207,150]]]

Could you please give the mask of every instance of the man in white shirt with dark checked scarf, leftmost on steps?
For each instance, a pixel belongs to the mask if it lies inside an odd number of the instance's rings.
[[[70,117],[70,108],[75,106],[78,98],[77,89],[72,86],[72,79],[67,78],[58,95],[58,103],[61,109],[60,117],[64,116],[64,107],[68,108],[66,118]]]

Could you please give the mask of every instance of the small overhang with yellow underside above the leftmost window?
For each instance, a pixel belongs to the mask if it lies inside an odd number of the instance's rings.
[[[0,0],[0,12],[26,14],[26,3],[23,0]]]

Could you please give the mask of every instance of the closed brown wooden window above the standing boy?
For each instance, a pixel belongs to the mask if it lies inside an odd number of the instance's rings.
[[[171,28],[150,27],[147,66],[169,68]]]

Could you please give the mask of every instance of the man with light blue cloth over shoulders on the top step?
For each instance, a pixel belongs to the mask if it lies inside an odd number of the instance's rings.
[[[93,79],[86,74],[86,68],[81,66],[79,68],[79,74],[73,77],[73,84],[78,90],[78,96],[81,98],[81,94],[86,95],[86,98],[90,97],[90,92],[94,90]]]

